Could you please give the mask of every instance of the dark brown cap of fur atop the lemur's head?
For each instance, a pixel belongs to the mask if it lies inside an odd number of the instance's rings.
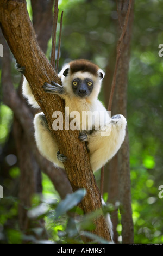
[[[70,64],[71,74],[81,71],[81,72],[89,72],[97,76],[97,71],[99,68],[97,65],[93,64],[92,62],[89,62],[89,60],[78,59],[78,60],[73,60],[69,64]]]

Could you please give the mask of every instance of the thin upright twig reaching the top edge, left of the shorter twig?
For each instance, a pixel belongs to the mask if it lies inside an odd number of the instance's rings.
[[[58,0],[54,3],[54,16],[53,16],[53,32],[52,32],[52,53],[51,53],[51,64],[55,69],[55,48],[56,48],[56,32],[57,32],[57,21],[58,21]]]

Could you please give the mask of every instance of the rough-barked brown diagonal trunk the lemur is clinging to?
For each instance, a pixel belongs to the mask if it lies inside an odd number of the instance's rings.
[[[32,88],[35,99],[45,113],[49,129],[57,140],[60,153],[68,158],[65,169],[73,191],[81,187],[86,188],[87,194],[81,203],[84,212],[92,212],[101,208],[101,196],[85,144],[78,140],[78,131],[53,131],[52,129],[52,114],[54,111],[64,113],[64,101],[58,96],[47,95],[42,85],[52,80],[60,83],[60,80],[37,44],[27,13],[26,1],[5,0],[1,2],[0,25],[17,62],[26,68],[24,75]],[[96,229],[93,233],[110,241],[104,217],[100,216],[94,222]]]

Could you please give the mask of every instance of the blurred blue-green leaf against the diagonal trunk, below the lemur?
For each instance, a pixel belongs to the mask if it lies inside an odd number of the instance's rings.
[[[72,194],[68,194],[55,209],[55,217],[58,218],[60,215],[65,214],[67,211],[79,204],[85,195],[86,190],[84,188],[77,190]]]

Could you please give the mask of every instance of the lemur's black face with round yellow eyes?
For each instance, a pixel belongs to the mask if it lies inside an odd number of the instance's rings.
[[[72,80],[72,89],[74,94],[79,97],[89,96],[93,89],[93,81],[89,78],[85,78],[84,80],[76,78]]]

